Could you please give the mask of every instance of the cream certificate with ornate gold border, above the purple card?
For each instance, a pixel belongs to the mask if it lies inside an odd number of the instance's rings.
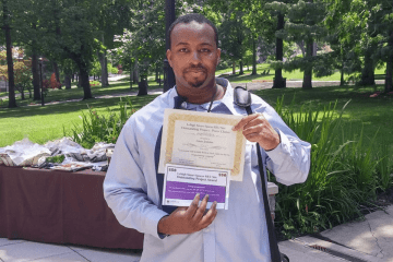
[[[233,131],[241,116],[166,109],[158,172],[166,164],[230,170],[242,181],[246,138]]]

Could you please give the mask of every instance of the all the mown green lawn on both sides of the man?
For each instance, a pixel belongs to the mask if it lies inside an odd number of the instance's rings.
[[[151,82],[152,83],[152,82]],[[153,86],[153,83],[152,83]],[[393,146],[393,107],[392,96],[382,96],[370,98],[369,95],[376,90],[383,90],[383,86],[374,87],[319,87],[311,91],[302,91],[301,88],[285,90],[264,90],[257,92],[267,103],[274,106],[277,97],[285,94],[285,102],[289,104],[294,94],[296,94],[296,105],[300,106],[306,103],[313,105],[327,105],[331,102],[338,100],[337,108],[349,99],[347,109],[345,110],[346,131],[358,132],[361,127],[365,128],[367,138],[372,138],[377,130],[378,144],[388,143]],[[111,83],[109,87],[92,87],[94,95],[126,93],[129,91],[129,83],[119,81]],[[136,91],[136,88],[134,90]],[[70,98],[81,98],[81,88],[72,88],[70,91],[51,91],[46,100],[62,100]],[[366,95],[366,97],[365,97]],[[155,96],[132,97],[134,107],[141,108],[151,102]],[[106,111],[107,107],[117,108],[119,98],[107,99],[88,99],[73,103],[28,106],[19,108],[0,108],[0,147],[10,145],[15,141],[28,138],[37,143],[45,143],[48,140],[59,139],[63,135],[63,126],[69,129],[72,123],[81,123],[83,110],[88,106],[93,106],[98,112]],[[23,105],[17,99],[19,105]],[[28,104],[29,100],[24,104]]]

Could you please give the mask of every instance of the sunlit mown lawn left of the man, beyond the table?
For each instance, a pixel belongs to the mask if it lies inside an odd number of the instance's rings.
[[[131,97],[135,109],[141,108],[156,96]],[[28,138],[44,144],[49,140],[63,136],[63,127],[70,131],[73,123],[80,124],[82,111],[87,105],[99,114],[107,114],[107,108],[118,110],[119,98],[90,99],[86,102],[63,103],[47,106],[17,107],[0,109],[0,147]]]

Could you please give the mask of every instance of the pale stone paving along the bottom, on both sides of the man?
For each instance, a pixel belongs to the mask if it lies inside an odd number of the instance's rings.
[[[279,242],[279,249],[289,257],[290,262],[393,262],[393,205],[388,206],[385,212],[366,215],[362,222],[340,225],[321,235],[325,240],[300,237]],[[140,258],[140,253],[131,250],[0,238],[0,262],[138,262]]]

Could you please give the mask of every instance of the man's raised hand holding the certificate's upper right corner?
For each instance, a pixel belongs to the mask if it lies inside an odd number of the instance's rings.
[[[234,131],[240,129],[248,141],[258,142],[265,151],[274,150],[279,144],[278,133],[262,114],[249,115],[233,128]]]

